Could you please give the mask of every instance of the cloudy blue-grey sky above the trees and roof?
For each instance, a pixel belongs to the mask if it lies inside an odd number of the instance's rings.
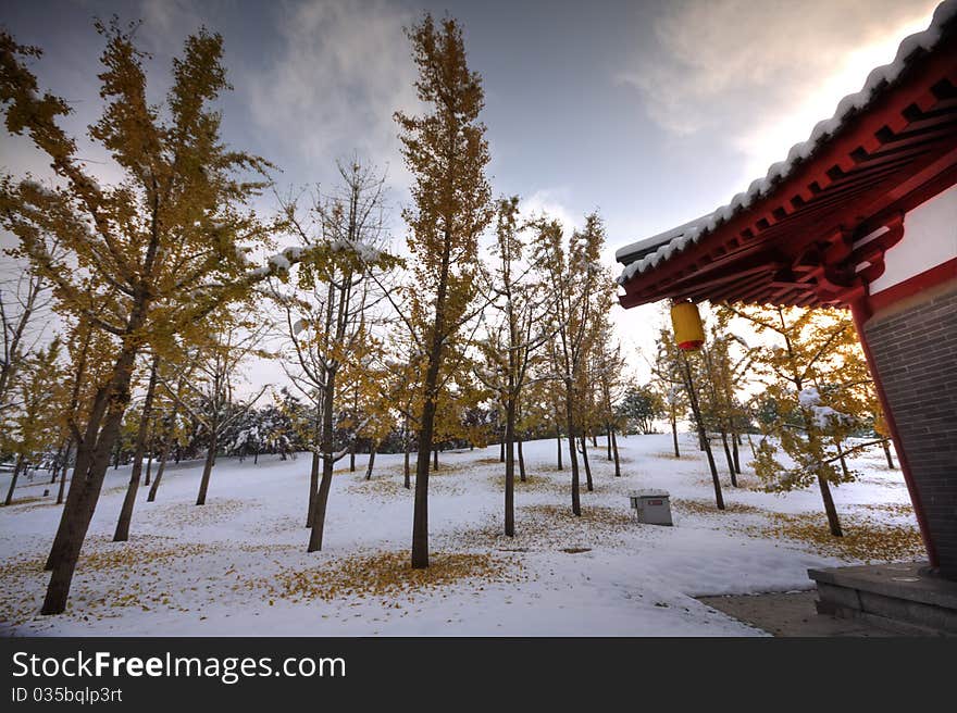
[[[613,253],[712,211],[830,117],[898,42],[930,23],[933,0],[4,0],[0,24],[44,49],[41,86],[71,101],[83,134],[99,109],[94,17],[141,20],[151,97],[169,86],[184,38],[223,35],[234,90],[226,140],[282,168],[279,192],[328,185],[337,158],[387,168],[391,235],[409,175],[393,112],[417,110],[403,27],[424,11],[458,18],[483,77],[495,195],[518,195],[571,229],[594,210]],[[42,175],[25,141],[0,136],[0,166]],[[91,166],[97,157],[90,149]],[[102,171],[109,174],[103,164]],[[109,175],[103,176],[109,180]],[[274,207],[269,196],[260,208]],[[9,236],[8,236],[9,237]],[[8,260],[2,258],[2,260]],[[655,307],[614,309],[619,339],[647,373]],[[282,380],[275,365],[260,378]]]

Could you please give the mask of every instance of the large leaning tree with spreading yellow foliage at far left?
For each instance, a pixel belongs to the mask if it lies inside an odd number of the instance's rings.
[[[163,107],[147,101],[144,54],[136,25],[97,23],[105,38],[100,96],[104,108],[89,127],[122,173],[102,187],[60,126],[72,110],[40,95],[26,62],[40,50],[0,33],[0,102],[8,132],[26,134],[51,162],[58,186],[0,182],[0,221],[18,239],[17,257],[53,286],[61,314],[87,320],[116,337],[109,378],[98,389],[77,440],[74,477],[54,540],[53,575],[42,613],[61,613],[110,453],[130,399],[137,355],[162,353],[172,337],[201,325],[219,307],[244,297],[271,275],[285,274],[300,252],[283,252],[248,270],[240,246],[265,245],[273,230],[248,210],[266,185],[262,159],[229,150],[222,114],[212,107],[229,88],[223,42],[204,29],[173,60]],[[61,253],[51,250],[55,241]]]

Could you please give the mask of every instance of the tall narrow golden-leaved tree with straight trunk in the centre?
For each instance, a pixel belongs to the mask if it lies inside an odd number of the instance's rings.
[[[478,122],[481,77],[465,62],[462,28],[426,13],[408,30],[419,67],[415,90],[428,110],[396,112],[402,158],[413,177],[414,207],[402,212],[414,261],[414,295],[406,320],[422,354],[422,414],[418,420],[412,567],[428,566],[428,456],[450,342],[473,317],[478,236],[492,220],[485,179],[488,146]]]

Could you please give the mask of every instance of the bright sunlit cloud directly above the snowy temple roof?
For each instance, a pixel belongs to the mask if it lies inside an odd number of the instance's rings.
[[[707,133],[763,172],[927,26],[933,0],[683,0],[618,80],[676,137]]]

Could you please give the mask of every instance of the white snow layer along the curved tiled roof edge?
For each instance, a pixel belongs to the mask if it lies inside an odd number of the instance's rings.
[[[751,182],[748,189],[737,193],[728,205],[722,205],[712,213],[676,228],[619,249],[614,253],[614,258],[619,262],[625,263],[625,267],[618,278],[618,283],[624,285],[635,275],[645,273],[666,260],[670,260],[674,254],[683,251],[689,245],[698,242],[703,236],[751,205],[756,200],[767,196],[781,179],[791,174],[796,165],[811,155],[818,146],[836,133],[850,114],[867,107],[879,89],[893,83],[900,75],[907,64],[907,59],[915,51],[933,49],[941,39],[943,26],[955,16],[957,16],[957,0],[944,0],[939,4],[928,28],[905,37],[891,64],[872,70],[860,91],[844,97],[837,103],[837,110],[831,118],[818,122],[806,141],[791,147],[787,159],[772,164],[763,178]]]

